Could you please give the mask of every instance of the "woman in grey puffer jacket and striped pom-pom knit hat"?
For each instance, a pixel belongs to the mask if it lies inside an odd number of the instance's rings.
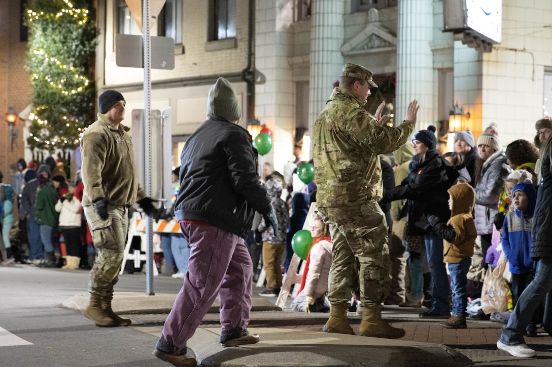
[[[485,258],[491,246],[498,198],[512,169],[506,161],[496,123],[491,123],[481,133],[477,139],[477,150],[481,159],[477,160],[475,168],[475,228],[481,236],[481,251]]]

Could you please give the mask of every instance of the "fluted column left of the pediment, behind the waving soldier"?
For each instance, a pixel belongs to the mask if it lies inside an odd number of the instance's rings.
[[[344,0],[315,0],[311,9],[309,130],[326,105],[343,66]],[[309,149],[304,147],[303,149]],[[312,150],[312,140],[311,147]]]

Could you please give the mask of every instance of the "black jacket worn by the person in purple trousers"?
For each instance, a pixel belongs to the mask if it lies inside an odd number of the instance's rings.
[[[271,210],[247,130],[221,117],[201,124],[182,149],[177,220],[207,222],[246,238],[254,211]]]

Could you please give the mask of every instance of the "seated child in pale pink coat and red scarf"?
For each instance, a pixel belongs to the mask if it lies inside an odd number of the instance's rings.
[[[332,239],[328,226],[322,222],[320,216],[312,221],[310,231],[314,241],[307,256],[299,293],[291,302],[291,309],[301,312],[330,312],[326,293],[332,265]]]

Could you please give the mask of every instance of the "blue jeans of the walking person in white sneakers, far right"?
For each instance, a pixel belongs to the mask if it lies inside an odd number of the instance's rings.
[[[516,307],[508,320],[507,325],[502,327],[500,341],[507,346],[515,346],[525,343],[523,339],[523,331],[527,327],[529,321],[533,318],[533,314],[539,305],[546,300],[543,326],[545,330],[550,329],[546,326],[550,322],[547,316],[550,315],[550,307],[552,306],[552,257],[545,257],[537,262],[537,270],[535,278],[523,291],[517,301]],[[547,320],[548,319],[548,320]]]

